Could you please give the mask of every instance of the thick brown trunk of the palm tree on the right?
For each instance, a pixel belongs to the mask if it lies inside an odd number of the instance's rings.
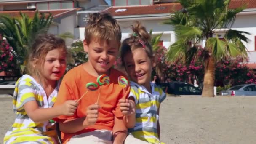
[[[210,56],[205,61],[205,75],[203,78],[203,92],[202,97],[214,97],[213,87],[215,80],[215,64],[213,58]]]

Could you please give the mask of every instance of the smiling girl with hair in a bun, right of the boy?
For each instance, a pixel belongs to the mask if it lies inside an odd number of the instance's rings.
[[[149,33],[138,21],[132,30],[121,47],[122,63],[131,80],[128,100],[119,101],[130,132],[125,144],[160,144],[159,108],[166,95],[150,80],[156,63]]]

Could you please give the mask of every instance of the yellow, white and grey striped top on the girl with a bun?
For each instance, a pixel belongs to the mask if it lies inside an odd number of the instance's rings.
[[[166,95],[160,87],[150,83],[152,93],[137,83],[131,82],[129,97],[135,99],[136,104],[136,124],[128,131],[138,139],[152,144],[160,144],[157,135],[157,121],[159,115],[157,110]]]

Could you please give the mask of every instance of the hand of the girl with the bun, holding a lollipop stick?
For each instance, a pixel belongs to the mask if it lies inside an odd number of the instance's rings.
[[[123,115],[131,115],[135,113],[135,102],[131,99],[120,99],[120,110]]]

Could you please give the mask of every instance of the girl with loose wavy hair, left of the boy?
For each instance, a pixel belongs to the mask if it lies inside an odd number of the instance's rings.
[[[13,109],[16,119],[5,134],[4,144],[57,144],[55,122],[59,115],[74,115],[75,101],[53,107],[58,84],[66,69],[63,39],[39,35],[32,44],[27,72],[16,82]]]

